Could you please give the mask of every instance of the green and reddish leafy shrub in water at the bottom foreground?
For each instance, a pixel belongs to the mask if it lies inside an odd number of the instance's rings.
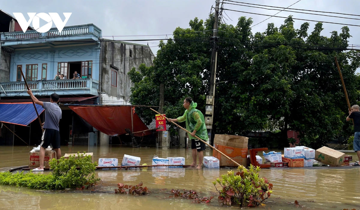
[[[238,169],[240,171],[236,174],[231,170],[212,182],[215,188],[216,184],[220,184],[221,189],[216,190],[223,204],[255,207],[270,197],[273,184],[267,182],[266,178],[259,178],[259,166],[250,165],[249,169],[239,166]]]

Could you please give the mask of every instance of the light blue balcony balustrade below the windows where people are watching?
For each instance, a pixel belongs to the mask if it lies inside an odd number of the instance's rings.
[[[27,82],[34,95],[98,95],[99,81],[91,78],[76,80],[39,80]],[[1,82],[0,97],[28,96],[25,82]]]

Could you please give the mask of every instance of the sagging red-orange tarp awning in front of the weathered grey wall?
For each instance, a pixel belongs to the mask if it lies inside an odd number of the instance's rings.
[[[107,135],[121,135],[126,134],[125,129],[132,128],[134,125],[134,131],[148,130],[148,127],[135,113],[135,107],[131,106],[77,106],[69,105],[69,108],[77,113],[84,120],[89,122],[91,126]],[[131,110],[133,108],[133,110]],[[137,137],[151,134],[150,131],[134,134]]]

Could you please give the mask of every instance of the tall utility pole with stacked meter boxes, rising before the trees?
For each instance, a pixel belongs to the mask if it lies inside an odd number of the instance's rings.
[[[214,27],[211,37],[211,60],[210,60],[210,78],[208,81],[209,89],[208,95],[206,96],[206,110],[205,110],[205,124],[207,128],[207,133],[209,137],[209,142],[211,144],[212,140],[212,120],[213,120],[213,106],[215,100],[215,81],[216,81],[216,63],[217,63],[217,52],[216,52],[216,43],[218,40],[217,29],[219,22],[219,4],[220,0],[215,0],[215,17],[214,17]]]

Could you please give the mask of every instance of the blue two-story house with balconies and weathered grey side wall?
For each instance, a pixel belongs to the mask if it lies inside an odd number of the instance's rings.
[[[14,17],[1,10],[0,17],[7,20],[0,22],[0,104],[11,103],[16,109],[17,104],[31,103],[23,72],[33,94],[40,100],[50,101],[52,93],[60,95],[63,145],[107,144],[109,137],[99,131],[75,134],[74,127],[77,131],[86,130],[84,127],[89,125],[74,120],[76,114],[63,104],[127,104],[133,85],[127,72],[141,63],[152,65],[154,54],[149,46],[103,39],[102,30],[94,24],[67,26],[61,32],[51,28],[45,33],[28,28],[24,33]],[[64,79],[56,77],[57,72],[64,75]],[[73,79],[75,72],[80,74],[80,79]],[[40,117],[43,120],[44,113]],[[39,142],[38,120],[27,126],[4,124],[9,129],[1,129],[0,145]]]

